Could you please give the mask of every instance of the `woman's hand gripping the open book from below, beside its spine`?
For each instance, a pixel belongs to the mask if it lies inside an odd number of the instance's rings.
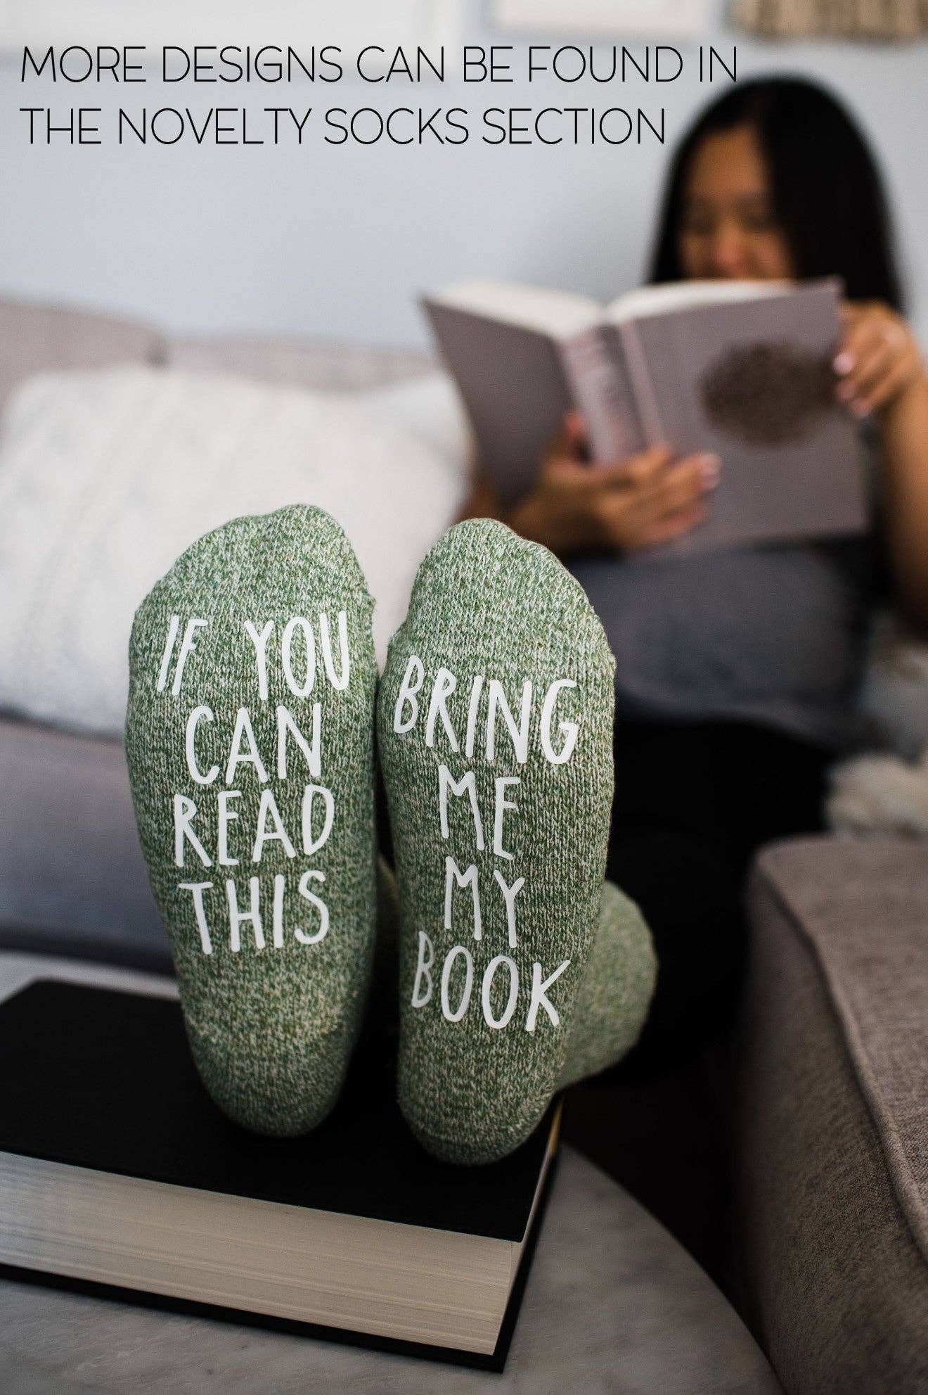
[[[713,455],[674,459],[654,446],[614,465],[584,459],[582,417],[570,412],[538,483],[509,515],[517,533],[553,552],[637,552],[669,543],[701,523],[705,495],[719,481]]]

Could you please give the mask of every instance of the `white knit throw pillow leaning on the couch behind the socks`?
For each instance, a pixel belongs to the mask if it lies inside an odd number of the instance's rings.
[[[120,732],[137,604],[202,533],[286,504],[346,529],[382,658],[468,449],[440,375],[351,396],[146,367],[28,379],[0,439],[0,707]]]

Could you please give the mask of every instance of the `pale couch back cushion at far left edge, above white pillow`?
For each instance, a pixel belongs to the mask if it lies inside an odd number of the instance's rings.
[[[157,363],[163,353],[160,336],[131,319],[0,300],[0,407],[17,384],[33,372]]]

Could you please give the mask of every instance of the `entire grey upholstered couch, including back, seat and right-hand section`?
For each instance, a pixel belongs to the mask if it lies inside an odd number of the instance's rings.
[[[176,340],[0,303],[0,405],[28,372],[113,361],[351,389],[429,360]],[[0,714],[0,944],[169,967],[121,744]],[[928,1391],[928,844],[765,851],[738,1039],[750,1317],[790,1392]]]

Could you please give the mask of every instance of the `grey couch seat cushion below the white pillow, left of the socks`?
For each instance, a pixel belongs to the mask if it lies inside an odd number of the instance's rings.
[[[123,744],[0,718],[0,943],[170,965]]]

